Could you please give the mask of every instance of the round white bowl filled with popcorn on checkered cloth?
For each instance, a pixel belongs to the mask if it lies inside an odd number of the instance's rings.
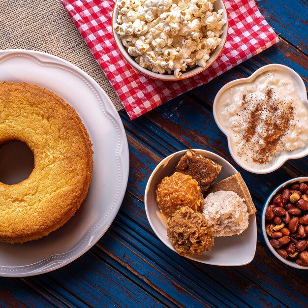
[[[112,26],[120,53],[135,70],[172,81],[215,62],[228,17],[223,0],[117,0]]]

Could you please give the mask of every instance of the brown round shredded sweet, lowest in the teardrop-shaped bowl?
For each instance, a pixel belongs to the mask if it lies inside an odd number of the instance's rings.
[[[185,206],[167,221],[167,235],[174,249],[182,256],[211,251],[214,245],[213,229],[201,213]]]

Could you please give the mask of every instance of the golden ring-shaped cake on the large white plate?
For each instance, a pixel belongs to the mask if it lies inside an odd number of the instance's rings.
[[[23,243],[57,230],[85,199],[92,144],[76,111],[26,83],[0,82],[0,143],[25,142],[34,155],[28,179],[0,183],[0,241]]]

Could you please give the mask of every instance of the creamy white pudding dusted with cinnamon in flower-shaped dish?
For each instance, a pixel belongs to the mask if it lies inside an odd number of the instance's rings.
[[[244,168],[266,169],[308,147],[308,106],[299,92],[292,76],[271,70],[221,93],[216,117]]]

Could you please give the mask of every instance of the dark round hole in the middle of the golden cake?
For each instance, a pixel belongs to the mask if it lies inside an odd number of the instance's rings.
[[[34,156],[25,142],[14,140],[0,145],[0,182],[18,184],[29,178]]]

